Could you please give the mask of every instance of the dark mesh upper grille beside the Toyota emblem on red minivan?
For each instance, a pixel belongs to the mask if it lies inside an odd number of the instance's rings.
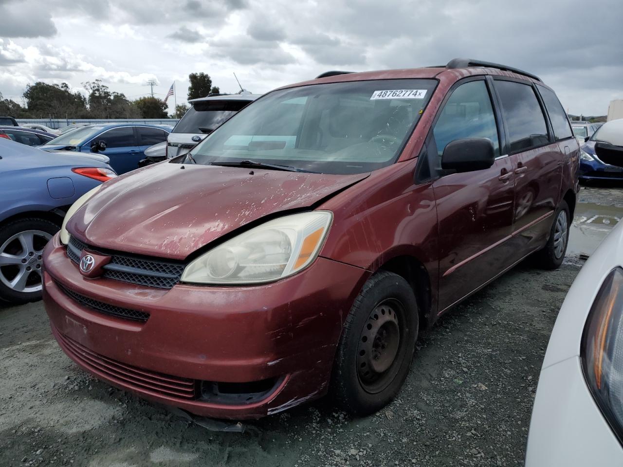
[[[78,264],[82,250],[85,248],[97,252],[96,248],[90,248],[77,238],[70,237],[69,245],[67,245],[67,256],[74,263]],[[145,260],[122,253],[112,253],[110,263],[105,265],[103,270],[103,276],[109,279],[170,289],[179,282],[184,272],[184,265],[157,259]]]

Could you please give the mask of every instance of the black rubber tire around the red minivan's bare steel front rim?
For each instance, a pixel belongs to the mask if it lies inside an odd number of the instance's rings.
[[[357,352],[359,339],[372,311],[388,299],[402,304],[399,318],[401,337],[399,349],[386,374],[394,374],[391,382],[380,392],[371,394],[358,377]],[[335,404],[356,417],[377,412],[401,390],[407,377],[416,345],[419,319],[413,289],[401,276],[379,271],[364,284],[346,316],[331,375],[330,395]],[[403,347],[404,346],[404,347]],[[390,380],[390,376],[388,376]]]

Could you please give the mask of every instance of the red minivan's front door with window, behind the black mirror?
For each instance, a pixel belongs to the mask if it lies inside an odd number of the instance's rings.
[[[492,167],[442,176],[433,182],[439,222],[439,312],[505,270],[511,251],[514,174],[500,154],[498,125],[484,79],[452,91],[434,125],[437,155],[461,138],[488,138],[497,156]]]

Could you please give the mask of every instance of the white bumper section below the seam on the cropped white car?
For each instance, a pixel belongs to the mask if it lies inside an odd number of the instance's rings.
[[[578,356],[541,370],[526,467],[623,465],[623,448],[589,391]]]

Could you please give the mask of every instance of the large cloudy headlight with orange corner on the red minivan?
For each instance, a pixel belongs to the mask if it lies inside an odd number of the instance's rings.
[[[181,280],[250,284],[291,276],[315,260],[333,214],[303,212],[254,227],[191,262]]]

